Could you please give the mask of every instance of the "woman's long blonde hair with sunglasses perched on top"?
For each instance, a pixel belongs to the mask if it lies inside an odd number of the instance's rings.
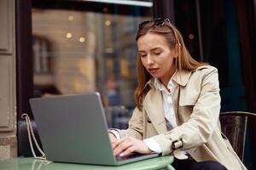
[[[154,20],[146,21],[143,26],[139,26],[136,40],[146,35],[148,32],[165,37],[167,42],[169,43],[170,48],[177,48],[177,58],[174,62],[176,63],[178,71],[194,71],[197,67],[201,65],[207,65],[206,63],[202,63],[193,59],[183,42],[183,37],[181,33],[177,30],[175,26],[172,26],[169,20],[165,20],[164,22],[165,23],[163,23],[161,26],[155,26]],[[138,86],[134,93],[134,99],[140,111],[142,111],[143,109],[143,96],[147,94],[150,89],[149,87],[145,87],[146,83],[150,80],[150,78],[151,75],[144,68],[143,63],[139,55],[137,54]]]

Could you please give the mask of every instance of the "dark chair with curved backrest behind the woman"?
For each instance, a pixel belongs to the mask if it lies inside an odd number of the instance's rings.
[[[222,133],[230,140],[241,161],[243,161],[245,149],[248,118],[256,120],[256,114],[246,111],[225,111],[219,116]]]

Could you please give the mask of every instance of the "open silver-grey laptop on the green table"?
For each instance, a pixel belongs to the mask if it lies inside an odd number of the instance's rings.
[[[158,156],[113,155],[99,93],[35,98],[30,105],[49,161],[120,165]]]

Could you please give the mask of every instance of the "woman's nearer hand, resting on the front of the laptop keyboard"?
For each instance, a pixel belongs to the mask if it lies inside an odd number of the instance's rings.
[[[143,140],[135,139],[132,137],[124,137],[122,139],[116,139],[112,142],[113,154],[115,156],[129,156],[132,152],[141,154],[149,154],[152,150],[148,149],[148,146]]]

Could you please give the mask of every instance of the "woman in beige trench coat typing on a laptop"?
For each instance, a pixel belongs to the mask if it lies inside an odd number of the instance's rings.
[[[109,133],[115,155],[173,154],[176,169],[246,169],[222,137],[218,71],[193,59],[168,19],[137,32],[137,108]]]

